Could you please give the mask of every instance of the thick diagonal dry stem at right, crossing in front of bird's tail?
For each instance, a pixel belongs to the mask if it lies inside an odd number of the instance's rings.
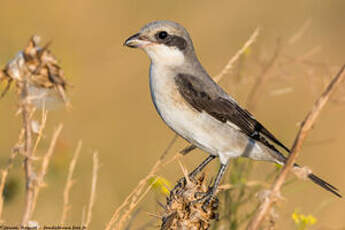
[[[332,79],[329,83],[325,91],[319,97],[319,99],[315,102],[313,108],[308,113],[306,118],[304,119],[302,126],[295,138],[295,142],[291,149],[291,154],[288,157],[286,164],[284,165],[282,171],[280,172],[279,176],[276,178],[275,182],[272,185],[271,192],[267,198],[265,198],[258,208],[256,215],[253,217],[252,221],[249,223],[247,229],[248,230],[256,230],[259,229],[260,224],[264,220],[265,216],[269,213],[272,204],[276,201],[277,197],[279,197],[280,188],[283,185],[288,172],[293,167],[296,158],[301,150],[302,144],[307,137],[309,131],[312,129],[315,121],[317,120],[321,110],[324,108],[330,95],[334,92],[335,88],[345,77],[345,65],[340,69],[337,75]]]

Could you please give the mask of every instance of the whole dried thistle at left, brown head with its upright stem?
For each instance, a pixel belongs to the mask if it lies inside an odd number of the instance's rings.
[[[35,197],[35,182],[37,178],[33,168],[33,160],[35,159],[34,151],[42,136],[41,127],[36,143],[34,143],[32,131],[34,107],[32,105],[32,100],[35,97],[29,95],[29,89],[32,87],[38,89],[44,88],[47,90],[53,88],[60,89],[61,87],[65,89],[67,84],[64,79],[63,71],[57,64],[56,58],[48,50],[48,45],[40,47],[38,45],[39,40],[38,36],[33,36],[29,44],[0,71],[0,82],[7,81],[5,90],[0,97],[3,97],[14,83],[18,92],[19,112],[23,120],[24,147],[21,151],[24,155],[25,207],[21,221],[22,225],[27,225],[28,221],[31,219],[35,200],[37,199],[37,195]],[[46,119],[46,114],[42,115],[42,119]],[[41,125],[44,127],[43,122]],[[47,155],[49,155],[49,152]],[[43,179],[46,173],[44,167],[48,167],[48,164],[49,159],[44,159],[42,163],[42,174],[39,175],[40,178],[38,178],[38,187],[40,187],[40,183],[42,182],[40,179]],[[6,175],[6,173],[4,175]],[[37,191],[39,191],[39,188]]]

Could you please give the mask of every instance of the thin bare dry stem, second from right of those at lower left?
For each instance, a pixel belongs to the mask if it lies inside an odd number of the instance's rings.
[[[79,158],[79,154],[81,151],[81,147],[82,147],[82,141],[80,140],[78,142],[77,148],[74,152],[73,158],[70,162],[69,168],[68,168],[68,175],[67,175],[67,180],[66,180],[66,185],[65,185],[65,189],[63,192],[63,208],[62,208],[62,215],[61,215],[61,220],[60,220],[60,224],[63,225],[65,224],[67,215],[68,215],[68,211],[70,210],[71,206],[69,204],[69,193],[70,190],[74,184],[73,181],[73,172],[75,169],[75,165],[77,164],[77,160]]]

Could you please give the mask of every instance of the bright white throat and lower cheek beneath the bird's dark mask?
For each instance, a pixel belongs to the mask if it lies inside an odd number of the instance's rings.
[[[154,65],[179,66],[185,58],[184,53],[176,47],[154,44],[144,48]]]

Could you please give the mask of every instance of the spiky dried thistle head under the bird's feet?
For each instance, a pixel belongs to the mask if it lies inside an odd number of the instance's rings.
[[[206,208],[198,201],[208,191],[205,174],[177,186],[167,198],[161,229],[208,229],[218,217],[218,199],[212,199]]]

